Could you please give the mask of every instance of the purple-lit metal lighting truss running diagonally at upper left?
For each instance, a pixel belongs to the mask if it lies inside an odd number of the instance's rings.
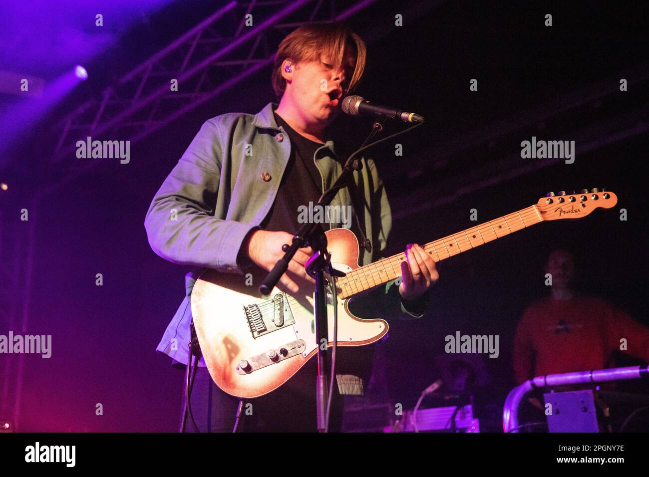
[[[345,19],[372,3],[347,2],[337,12],[333,0],[230,1],[56,124],[50,164],[60,165],[86,136],[139,141],[271,65],[291,29]]]

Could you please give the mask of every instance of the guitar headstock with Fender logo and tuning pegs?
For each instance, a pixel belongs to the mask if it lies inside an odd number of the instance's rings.
[[[580,193],[548,192],[536,206],[543,220],[580,219],[598,208],[609,209],[617,204],[617,195],[604,189],[583,189]]]

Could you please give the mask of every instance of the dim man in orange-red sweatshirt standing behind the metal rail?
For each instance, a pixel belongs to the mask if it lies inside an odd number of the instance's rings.
[[[605,300],[577,295],[572,254],[550,253],[546,273],[551,295],[523,313],[514,337],[513,364],[518,384],[543,374],[603,369],[613,352],[649,361],[649,328]]]

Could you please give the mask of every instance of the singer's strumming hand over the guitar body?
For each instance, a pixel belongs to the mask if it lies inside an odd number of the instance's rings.
[[[266,271],[271,271],[280,258],[284,256],[282,245],[291,243],[293,235],[288,232],[269,232],[267,230],[252,231],[241,244],[241,253]],[[288,293],[299,293],[300,289],[310,289],[315,280],[304,271],[304,263],[313,255],[311,247],[299,249],[291,262],[288,270],[277,286]]]

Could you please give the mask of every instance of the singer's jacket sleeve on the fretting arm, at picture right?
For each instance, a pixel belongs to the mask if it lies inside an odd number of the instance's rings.
[[[369,184],[372,185],[370,210],[372,214],[372,244],[374,247],[374,260],[382,257],[386,249],[387,236],[392,226],[392,213],[387,201],[386,189],[378,175],[376,165],[367,159],[367,172]],[[432,289],[429,289],[419,299],[404,303],[399,293],[397,280],[391,280],[384,286],[359,295],[350,302],[350,311],[359,317],[411,320],[424,316],[432,302]]]

